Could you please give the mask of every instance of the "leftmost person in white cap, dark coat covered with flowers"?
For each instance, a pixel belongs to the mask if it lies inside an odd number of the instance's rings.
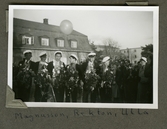
[[[31,87],[33,85],[33,78],[35,76],[34,68],[35,62],[31,61],[32,51],[25,50],[23,52],[24,58],[18,63],[18,74],[17,74],[17,84],[18,84],[18,98],[22,101],[30,101]]]

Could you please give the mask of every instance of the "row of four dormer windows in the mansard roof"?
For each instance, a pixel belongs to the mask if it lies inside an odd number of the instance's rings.
[[[49,46],[49,38],[40,38],[41,46]],[[64,39],[56,39],[57,47],[64,47]],[[33,36],[22,36],[22,44],[32,45],[34,44]],[[77,48],[77,41],[70,40],[71,48]]]

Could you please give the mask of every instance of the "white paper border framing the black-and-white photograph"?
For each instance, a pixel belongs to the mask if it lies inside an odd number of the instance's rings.
[[[13,60],[13,12],[15,9],[34,10],[101,10],[101,11],[152,11],[153,12],[153,104],[128,103],[58,103],[25,102],[28,107],[69,107],[69,108],[140,108],[158,109],[158,57],[159,57],[159,7],[158,6],[35,6],[9,5],[8,31],[8,85],[12,88]]]

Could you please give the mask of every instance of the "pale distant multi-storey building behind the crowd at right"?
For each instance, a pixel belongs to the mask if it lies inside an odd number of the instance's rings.
[[[136,64],[141,59],[142,48],[127,48],[120,50],[131,63]]]

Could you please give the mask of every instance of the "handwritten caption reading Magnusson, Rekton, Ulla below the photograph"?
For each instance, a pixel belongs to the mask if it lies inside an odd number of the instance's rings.
[[[129,116],[129,115],[148,115],[149,113],[144,110],[140,109],[121,109],[119,112],[112,112],[112,111],[103,111],[102,109],[87,109],[86,111],[74,109],[70,114],[66,114],[63,112],[59,113],[48,113],[48,114],[24,114],[24,113],[14,113],[14,118],[16,120],[28,120],[33,122],[35,119],[38,118],[65,118],[69,119],[71,117],[97,117],[97,116],[111,116],[111,117],[118,117],[118,116]]]

